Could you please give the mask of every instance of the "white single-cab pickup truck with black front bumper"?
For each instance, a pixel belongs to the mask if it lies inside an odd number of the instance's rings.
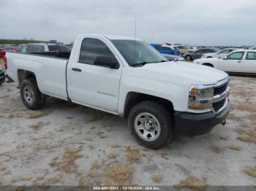
[[[192,63],[169,62],[139,39],[82,34],[67,58],[7,52],[7,76],[29,109],[46,95],[128,118],[145,147],[165,146],[174,133],[196,136],[225,124],[229,76]],[[65,55],[67,56],[67,55]]]

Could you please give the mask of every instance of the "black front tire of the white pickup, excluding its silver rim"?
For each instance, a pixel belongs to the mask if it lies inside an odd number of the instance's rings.
[[[135,130],[135,120],[140,114],[149,113],[157,118],[160,125],[160,133],[156,140],[146,141],[138,135]],[[135,105],[129,112],[128,126],[135,139],[143,147],[148,147],[150,149],[159,149],[160,147],[165,147],[171,139],[173,139],[174,134],[174,122],[173,114],[162,104],[157,101],[143,101],[140,104]]]

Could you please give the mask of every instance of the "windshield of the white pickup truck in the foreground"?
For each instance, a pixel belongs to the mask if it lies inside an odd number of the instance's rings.
[[[135,40],[111,40],[129,66],[167,61],[157,50],[146,42]]]

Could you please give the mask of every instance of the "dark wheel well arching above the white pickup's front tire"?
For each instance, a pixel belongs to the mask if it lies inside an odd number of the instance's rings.
[[[166,106],[167,109],[170,109],[170,111],[174,112],[173,103],[165,98],[159,98],[157,96],[144,93],[130,92],[128,93],[124,104],[124,118],[128,117],[129,112],[131,111],[133,106],[143,101],[157,101],[162,105]]]

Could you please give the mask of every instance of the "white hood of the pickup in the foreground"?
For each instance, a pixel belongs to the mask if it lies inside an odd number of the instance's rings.
[[[151,79],[186,85],[213,85],[228,77],[224,71],[182,61],[148,63],[140,67],[140,72]]]

